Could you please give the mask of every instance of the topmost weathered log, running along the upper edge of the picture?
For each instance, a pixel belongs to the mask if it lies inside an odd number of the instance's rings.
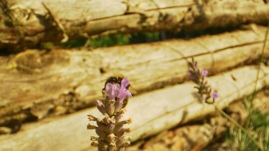
[[[264,0],[1,0],[0,6],[0,48],[59,42],[66,35],[176,32],[269,21]]]

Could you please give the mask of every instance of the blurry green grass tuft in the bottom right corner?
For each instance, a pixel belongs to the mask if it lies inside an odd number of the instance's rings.
[[[269,151],[269,113],[263,113],[254,108],[251,102],[251,98],[245,100],[248,117],[244,127],[263,146],[264,151]],[[227,151],[261,151],[246,133],[237,127],[229,129],[226,134],[226,143],[228,144]]]

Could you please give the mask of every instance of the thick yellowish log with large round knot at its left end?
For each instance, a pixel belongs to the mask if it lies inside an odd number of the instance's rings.
[[[105,79],[114,73],[128,77],[139,94],[182,82],[188,76],[187,60],[191,57],[210,74],[230,69],[257,59],[265,30],[254,26],[253,30],[191,40],[92,52],[28,50],[0,56],[0,126],[10,120],[42,119],[89,107],[102,97]],[[268,56],[269,45],[265,51],[265,57]]]

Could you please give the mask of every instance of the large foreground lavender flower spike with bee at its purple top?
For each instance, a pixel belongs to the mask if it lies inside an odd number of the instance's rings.
[[[111,76],[105,83],[102,93],[104,101],[97,100],[96,106],[103,114],[101,118],[88,115],[90,121],[95,121],[97,126],[89,124],[87,129],[95,129],[99,136],[91,137],[92,146],[98,151],[125,151],[131,144],[131,138],[125,137],[125,133],[131,132],[129,128],[123,128],[125,124],[132,123],[131,119],[121,120],[125,113],[124,107],[128,97],[132,97],[129,90],[130,82],[127,78]]]

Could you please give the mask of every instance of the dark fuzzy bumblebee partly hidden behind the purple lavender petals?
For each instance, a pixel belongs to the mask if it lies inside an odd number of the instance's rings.
[[[107,78],[103,90],[106,89],[106,85],[107,85],[107,83],[112,83],[112,84],[116,84],[116,83],[118,83],[118,84],[121,85],[122,80],[123,80],[124,78],[125,78],[124,75],[121,75],[121,74],[110,76],[109,78]],[[134,89],[134,87],[133,87],[131,84],[129,84],[126,88],[127,88],[128,90],[130,90],[130,92],[132,93],[132,95],[133,95],[133,94],[136,94],[136,90]],[[128,99],[129,99],[129,97],[126,97],[126,98],[123,100],[123,108],[126,107],[126,105],[127,105],[127,103],[128,103]]]

